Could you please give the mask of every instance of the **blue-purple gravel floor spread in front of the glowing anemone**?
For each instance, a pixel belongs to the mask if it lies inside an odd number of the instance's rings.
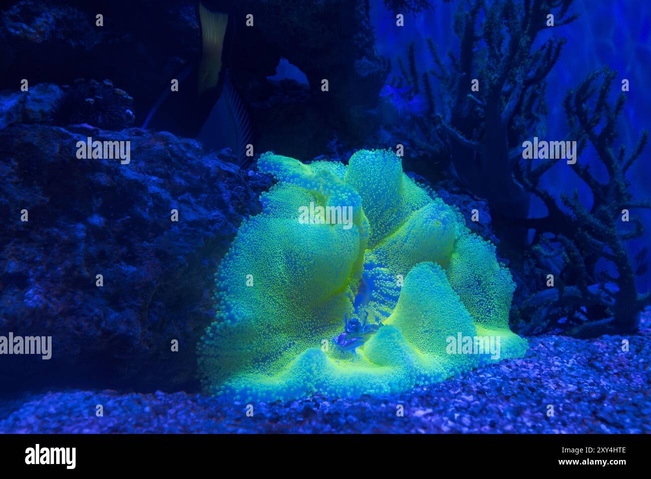
[[[0,404],[0,432],[651,433],[651,329],[644,316],[630,338],[529,338],[523,359],[395,397],[258,403],[247,417],[246,404],[200,394],[68,390]],[[103,417],[95,415],[98,404]]]

